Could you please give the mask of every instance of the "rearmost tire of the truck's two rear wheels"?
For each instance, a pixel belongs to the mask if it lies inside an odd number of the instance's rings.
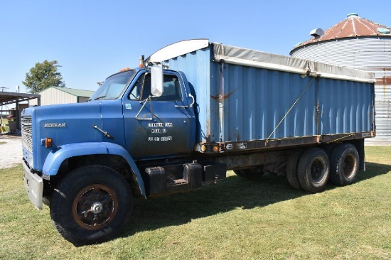
[[[360,158],[358,151],[351,143],[341,143],[333,149],[330,158],[330,180],[339,186],[355,182]]]

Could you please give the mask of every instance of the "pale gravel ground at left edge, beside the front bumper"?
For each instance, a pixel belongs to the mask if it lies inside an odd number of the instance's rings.
[[[0,169],[9,168],[22,162],[21,136],[0,135]]]

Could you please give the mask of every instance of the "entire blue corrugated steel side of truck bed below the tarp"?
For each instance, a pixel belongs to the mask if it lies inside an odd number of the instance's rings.
[[[369,83],[316,82],[314,77],[237,65],[225,65],[224,71],[223,141],[373,130]]]

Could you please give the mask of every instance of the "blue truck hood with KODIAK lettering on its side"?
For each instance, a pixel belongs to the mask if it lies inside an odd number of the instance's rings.
[[[31,116],[33,165],[41,170],[48,153],[68,143],[112,142],[124,146],[121,100],[58,104],[25,109],[22,117]],[[122,126],[122,127],[121,127]],[[109,139],[98,129],[107,131]],[[121,132],[122,131],[122,132]],[[53,140],[52,148],[45,148],[45,138]],[[24,143],[23,143],[24,146]],[[23,148],[23,156],[26,156]]]

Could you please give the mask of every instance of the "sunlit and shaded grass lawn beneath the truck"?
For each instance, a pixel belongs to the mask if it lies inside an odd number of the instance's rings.
[[[0,259],[391,259],[391,146],[366,147],[357,183],[323,193],[264,175],[136,200],[122,237],[74,247],[34,209],[21,166],[0,170]]]

